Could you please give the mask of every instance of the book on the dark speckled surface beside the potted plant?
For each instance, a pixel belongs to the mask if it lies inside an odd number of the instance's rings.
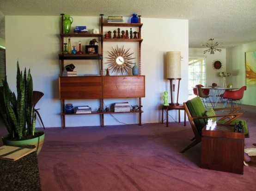
[[[0,159],[8,160],[8,161],[17,161],[18,159],[22,158],[30,154],[31,152],[36,151],[37,148],[24,148],[24,147],[17,147],[17,146],[1,146],[0,147]]]

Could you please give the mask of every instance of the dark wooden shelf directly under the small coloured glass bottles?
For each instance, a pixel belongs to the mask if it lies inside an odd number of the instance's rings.
[[[59,60],[102,60],[102,54],[59,54]]]

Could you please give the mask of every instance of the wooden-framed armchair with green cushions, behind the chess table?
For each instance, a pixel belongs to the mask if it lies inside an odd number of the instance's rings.
[[[201,142],[201,130],[206,126],[209,118],[213,119],[213,121],[216,120],[216,118],[220,118],[217,123],[225,125],[233,125],[235,123],[238,124],[238,122],[241,121],[244,125],[245,136],[249,137],[246,121],[238,119],[238,117],[242,116],[242,113],[238,113],[238,110],[240,110],[241,107],[235,107],[235,110],[233,110],[229,114],[216,115],[215,111],[223,110],[223,108],[206,110],[201,98],[199,97],[188,100],[187,102],[183,103],[183,105],[186,114],[189,117],[189,122],[191,124],[195,137],[192,139],[194,141],[181,152],[185,152],[186,150],[189,150],[191,147]],[[225,108],[225,110],[230,109],[231,108]]]

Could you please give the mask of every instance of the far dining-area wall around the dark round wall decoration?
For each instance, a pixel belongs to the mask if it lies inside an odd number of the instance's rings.
[[[207,86],[217,83],[218,86],[223,86],[223,78],[219,76],[219,72],[226,72],[226,49],[221,49],[222,52],[215,52],[215,54],[203,53],[206,48],[189,48],[189,57],[206,57],[207,62]],[[213,69],[213,61],[220,60],[223,64],[221,69]],[[230,72],[230,71],[227,71]]]

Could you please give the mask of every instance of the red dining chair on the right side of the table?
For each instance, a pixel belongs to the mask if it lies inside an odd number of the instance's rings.
[[[230,101],[231,102],[231,107],[234,107],[233,105],[233,101],[235,101],[237,103],[238,106],[238,102],[240,101],[241,107],[243,108],[243,104],[241,102],[241,99],[244,97],[244,91],[246,90],[246,86],[241,87],[240,89],[236,90],[236,91],[228,91],[226,90],[223,94],[223,99],[226,99],[225,104],[223,105],[223,108],[226,108],[227,103]],[[245,111],[244,111],[245,113]]]

